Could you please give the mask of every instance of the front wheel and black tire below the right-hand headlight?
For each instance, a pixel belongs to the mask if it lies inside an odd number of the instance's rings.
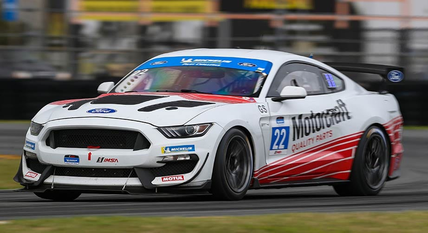
[[[253,177],[250,140],[241,130],[232,128],[221,139],[214,160],[211,193],[226,201],[242,199]]]

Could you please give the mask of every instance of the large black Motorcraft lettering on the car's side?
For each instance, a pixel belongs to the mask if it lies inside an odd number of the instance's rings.
[[[309,136],[311,133],[324,130],[325,128],[330,128],[343,121],[350,120],[352,117],[349,115],[346,104],[341,99],[336,100],[336,102],[338,105],[331,109],[326,109],[315,114],[311,111],[311,115],[304,118],[303,114],[300,114],[297,119],[296,117],[292,117],[293,141],[304,136]]]

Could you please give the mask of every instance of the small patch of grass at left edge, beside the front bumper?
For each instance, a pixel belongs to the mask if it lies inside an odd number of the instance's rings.
[[[11,159],[13,157],[0,156],[0,189],[18,189],[22,187],[12,180],[16,171],[18,171],[19,159],[21,156],[16,156],[16,159]]]

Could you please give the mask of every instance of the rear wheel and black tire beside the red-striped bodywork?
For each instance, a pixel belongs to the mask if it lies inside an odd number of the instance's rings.
[[[369,127],[355,153],[350,182],[333,186],[340,196],[372,196],[383,188],[389,170],[389,147],[385,133]]]

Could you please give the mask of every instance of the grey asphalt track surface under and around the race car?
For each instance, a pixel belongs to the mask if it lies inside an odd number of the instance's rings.
[[[0,154],[19,154],[27,124],[0,124]],[[404,131],[402,176],[380,195],[339,197],[330,186],[250,190],[241,201],[207,195],[83,194],[76,201],[45,201],[32,193],[0,191],[0,220],[72,215],[209,216],[286,212],[428,210],[428,130]]]

